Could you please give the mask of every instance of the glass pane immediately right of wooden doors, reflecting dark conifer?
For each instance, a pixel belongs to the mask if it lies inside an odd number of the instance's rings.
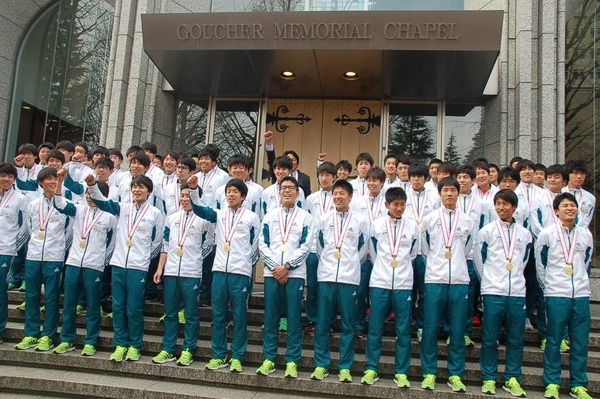
[[[427,164],[436,143],[437,104],[390,104],[389,153]]]

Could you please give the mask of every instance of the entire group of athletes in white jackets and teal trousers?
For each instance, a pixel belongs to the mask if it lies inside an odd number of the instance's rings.
[[[354,166],[319,154],[319,190],[311,193],[298,154],[276,157],[273,134],[264,139],[272,178],[266,188],[252,181],[253,160],[245,155],[227,160],[227,172],[220,169],[212,144],[192,156],[158,156],[152,143],[132,146],[125,154],[128,171],[118,149],[90,151],[68,141],[21,145],[14,162],[0,163],[0,343],[7,291],[20,289],[25,323],[16,349],[74,350],[76,316],[85,311],[81,354],[93,356],[110,302],[110,359],[139,360],[144,303],[155,299],[160,285],[164,338],[152,361],[190,365],[199,306],[211,306],[213,358],[205,367],[241,372],[260,258],[264,361],[257,374],[275,372],[279,332],[286,331],[285,376],[298,376],[304,333],[314,336],[311,378],[326,378],[339,316],[339,380],[352,382],[355,340],[366,338],[361,383],[377,382],[384,325],[392,321],[394,382],[408,388],[414,321],[421,388],[436,387],[441,324],[448,337],[447,383],[466,392],[465,351],[474,345],[473,325],[481,323],[481,391],[496,391],[503,339],[502,388],[525,397],[524,331],[536,325],[544,396],[558,399],[561,352],[569,351],[569,393],[591,397],[586,369],[595,198],[582,187],[585,162],[545,167],[517,157],[499,168],[483,158],[426,165],[389,154],[378,167],[368,153]],[[357,177],[349,179],[353,170]],[[184,340],[177,356],[180,323]]]

